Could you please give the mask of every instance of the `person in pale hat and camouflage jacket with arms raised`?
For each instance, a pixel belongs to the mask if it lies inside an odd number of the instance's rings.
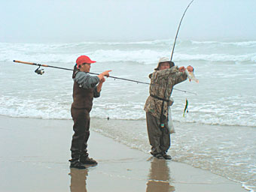
[[[173,86],[187,80],[184,67],[178,68],[169,58],[160,58],[151,78],[150,96],[145,103],[148,128],[148,139],[151,144],[151,154],[159,159],[172,159],[167,153],[170,146],[168,130],[168,107]],[[187,71],[193,71],[191,66]]]

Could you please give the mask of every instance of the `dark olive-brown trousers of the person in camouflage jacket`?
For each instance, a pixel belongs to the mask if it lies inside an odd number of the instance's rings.
[[[148,139],[151,144],[151,154],[164,154],[168,151],[171,143],[170,134],[168,129],[165,127],[160,127],[160,119],[151,115],[151,113],[146,113],[147,127],[148,127]],[[167,119],[164,122],[168,123]]]

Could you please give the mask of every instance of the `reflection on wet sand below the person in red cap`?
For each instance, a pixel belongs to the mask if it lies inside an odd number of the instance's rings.
[[[87,169],[70,169],[71,176],[70,191],[71,192],[87,192],[86,180],[88,175]]]

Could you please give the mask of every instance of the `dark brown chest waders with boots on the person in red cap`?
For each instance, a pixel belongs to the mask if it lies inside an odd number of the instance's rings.
[[[87,141],[90,136],[90,110],[93,107],[93,98],[99,98],[99,94],[95,93],[96,87],[84,88],[75,81],[78,72],[73,73],[73,103],[71,107],[71,115],[74,121],[71,145],[70,161],[71,168],[85,169],[83,164],[96,164],[96,160],[88,157]],[[83,74],[84,76],[86,73]]]

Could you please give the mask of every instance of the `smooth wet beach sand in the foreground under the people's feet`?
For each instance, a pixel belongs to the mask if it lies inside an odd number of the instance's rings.
[[[93,131],[88,150],[98,166],[70,169],[72,120],[0,116],[0,121],[0,191],[247,191],[227,178],[157,160]]]

